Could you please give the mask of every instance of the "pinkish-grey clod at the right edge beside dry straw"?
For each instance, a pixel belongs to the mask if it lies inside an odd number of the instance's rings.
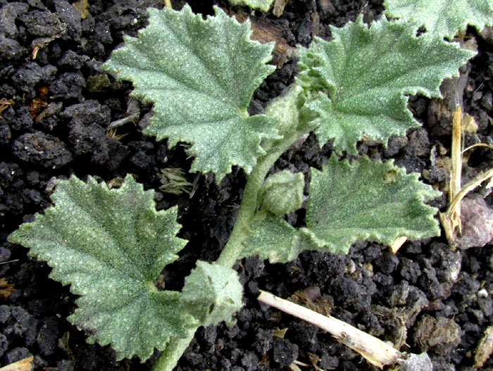
[[[493,210],[481,196],[471,196],[461,202],[462,235],[457,239],[459,249],[485,246],[493,239]]]

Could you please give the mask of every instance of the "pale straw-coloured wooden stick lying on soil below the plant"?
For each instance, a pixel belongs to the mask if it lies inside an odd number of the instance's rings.
[[[313,312],[313,310],[299,306],[291,301],[278,298],[277,296],[262,290],[261,294],[258,296],[258,301],[324,329],[332,334],[338,341],[342,342],[342,344],[357,351],[361,356],[366,358],[368,362],[377,367],[382,368],[384,365],[393,365],[399,358],[404,358],[403,353],[392,348],[392,346],[361,331],[361,329],[356,329],[356,327],[353,327],[346,322],[337,320],[337,318],[330,316],[326,317],[325,315]]]

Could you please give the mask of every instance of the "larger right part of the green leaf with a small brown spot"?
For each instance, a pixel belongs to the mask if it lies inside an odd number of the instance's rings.
[[[301,231],[319,249],[334,253],[347,253],[353,242],[365,239],[391,244],[401,236],[437,236],[437,209],[423,203],[437,196],[418,174],[406,175],[392,161],[362,157],[349,165],[332,156],[321,172],[312,169]]]

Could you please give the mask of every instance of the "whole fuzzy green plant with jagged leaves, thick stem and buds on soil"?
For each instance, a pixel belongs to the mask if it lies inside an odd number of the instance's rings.
[[[482,27],[491,22],[492,1],[456,0],[455,8],[447,1],[454,14],[442,16],[454,18],[467,4],[478,12],[455,31],[467,23]],[[392,15],[405,17],[413,1],[387,3],[395,8]],[[439,97],[442,80],[473,56],[444,39],[449,29],[418,35],[425,24],[420,19],[382,17],[366,25],[360,17],[332,27],[332,41],[316,38],[308,49],[300,47],[292,87],[265,114],[250,116],[254,90],[275,69],[268,65],[273,44],[251,41],[248,21],[239,24],[215,11],[204,19],[189,6],[149,9],[149,26],[137,38],[125,37],[104,68],[132,81],[135,98],[154,103],[146,134],[167,138],[170,147],[191,144],[192,171],[213,172],[217,182],[232,165],[248,174],[218,260],[198,261],[180,292],[156,289],[154,279],[187,241],[176,237],[177,207],[156,211],[154,191],[144,191],[131,176],[119,189],[92,177],[87,183],[75,176],[60,180],[54,206],[9,237],[46,260],[51,277],[80,295],[68,320],[87,330],[89,341],[111,344],[118,359],[145,361],[157,348],[156,371],[173,369],[198,327],[230,321],[242,307],[242,285],[232,270],[239,258],[258,254],[287,262],[304,249],[347,253],[355,241],[390,244],[401,236],[439,234],[437,210],[425,204],[439,193],[417,174],[392,161],[339,157],[357,155],[363,134],[385,145],[392,134],[418,127],[406,94]],[[480,11],[489,18],[482,20]],[[333,140],[335,153],[322,170],[311,170],[306,227],[295,229],[282,216],[301,207],[304,175],[267,175],[308,132],[320,146]]]

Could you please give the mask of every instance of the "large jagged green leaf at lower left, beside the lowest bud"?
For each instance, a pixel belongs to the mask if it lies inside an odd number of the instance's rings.
[[[51,278],[80,295],[70,322],[88,330],[89,341],[111,344],[118,359],[144,361],[170,337],[185,337],[195,321],[180,293],[153,283],[186,244],[175,237],[177,208],[156,211],[154,192],[130,175],[111,190],[73,176],[58,182],[51,199],[55,206],[8,240],[29,247],[53,268]]]

